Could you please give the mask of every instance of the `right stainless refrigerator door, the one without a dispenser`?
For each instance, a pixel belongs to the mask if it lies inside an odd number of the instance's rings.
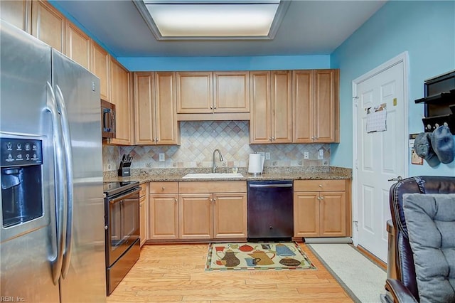
[[[105,302],[105,208],[102,189],[100,80],[53,50],[53,88],[60,104],[67,160],[68,228],[61,302]],[[61,105],[63,104],[63,105]],[[65,110],[63,109],[65,108]],[[65,124],[68,132],[65,132]],[[73,201],[71,201],[73,200]]]

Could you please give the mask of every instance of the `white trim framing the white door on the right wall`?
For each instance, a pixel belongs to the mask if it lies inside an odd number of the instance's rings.
[[[403,63],[403,95],[404,95],[404,100],[403,100],[403,114],[404,114],[404,119],[405,119],[405,132],[402,137],[403,144],[405,145],[405,151],[408,151],[408,142],[409,142],[409,137],[408,137],[408,124],[409,124],[409,117],[408,117],[408,96],[409,96],[409,55],[407,51],[400,53],[397,55],[395,58],[392,58],[385,63],[382,63],[376,68],[373,68],[373,70],[370,70],[368,73],[365,73],[361,75],[358,78],[355,78],[353,80],[353,182],[352,182],[352,218],[353,218],[353,245],[357,246],[358,245],[358,219],[359,219],[359,214],[358,214],[358,170],[357,170],[357,159],[358,159],[358,151],[357,151],[357,106],[355,105],[355,102],[357,101],[357,85],[360,83],[363,83],[364,81],[373,78],[375,75],[378,75],[382,73],[384,70],[387,70],[388,68],[391,68],[394,65],[397,65],[399,63]],[[409,161],[410,161],[410,155],[408,152],[405,152],[403,155],[403,159],[405,164],[405,176],[402,176],[403,179],[407,177],[407,174],[409,172]],[[385,228],[385,226],[384,226]]]

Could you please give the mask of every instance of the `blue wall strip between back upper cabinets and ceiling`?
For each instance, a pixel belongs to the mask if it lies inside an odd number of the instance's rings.
[[[271,55],[255,57],[117,58],[132,71],[298,70],[330,68],[329,55]]]

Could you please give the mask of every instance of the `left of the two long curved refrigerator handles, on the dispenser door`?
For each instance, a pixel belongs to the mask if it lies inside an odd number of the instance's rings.
[[[50,83],[46,83],[46,105],[45,110],[50,112],[53,129],[54,147],[54,183],[55,183],[55,211],[57,218],[57,252],[52,262],[52,277],[54,285],[58,285],[60,272],[63,265],[63,250],[66,242],[66,203],[65,203],[65,179],[62,168],[64,164],[63,146],[61,142],[62,130],[60,117],[58,117],[55,95]]]

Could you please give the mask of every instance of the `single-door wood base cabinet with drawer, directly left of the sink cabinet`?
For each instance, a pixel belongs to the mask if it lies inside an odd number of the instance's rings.
[[[178,239],[178,183],[150,182],[149,238]]]

